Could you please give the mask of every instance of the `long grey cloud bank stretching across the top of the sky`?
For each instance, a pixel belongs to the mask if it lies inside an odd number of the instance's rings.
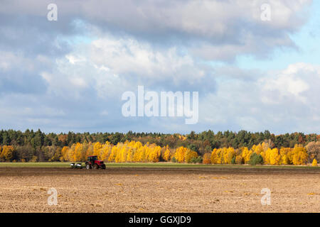
[[[274,48],[294,47],[290,34],[299,31],[307,20],[306,9],[311,0],[270,0],[272,21],[262,21],[260,6],[265,0],[254,1],[64,1],[57,0],[59,21],[54,31],[61,34],[95,29],[119,36],[124,34],[148,43],[168,45],[177,43],[203,59],[230,61],[242,54],[265,57]],[[46,19],[49,1],[7,1],[0,13],[10,17],[23,15]],[[75,18],[84,23],[74,23]],[[41,21],[41,20],[38,20]],[[40,22],[39,22],[40,23]],[[71,28],[66,28],[66,26]],[[89,28],[88,28],[89,27]],[[80,28],[80,29],[79,29]],[[82,30],[81,30],[82,28]],[[8,27],[9,29],[9,27]],[[33,29],[37,33],[38,28]],[[41,32],[48,32],[48,25]],[[9,29],[9,31],[11,31]],[[4,31],[6,37],[18,33]],[[1,33],[1,30],[0,30]],[[42,34],[43,36],[43,34]],[[48,37],[49,38],[49,37]],[[9,38],[10,40],[11,38]],[[49,40],[54,43],[56,40]],[[129,40],[128,40],[129,41]],[[56,43],[58,49],[60,43]],[[119,43],[109,43],[118,45]],[[134,48],[134,43],[130,44]],[[141,50],[140,47],[137,47]],[[124,50],[125,51],[125,50]],[[145,52],[136,52],[139,62],[148,60]],[[156,56],[155,56],[156,57]],[[70,59],[73,62],[72,59]]]

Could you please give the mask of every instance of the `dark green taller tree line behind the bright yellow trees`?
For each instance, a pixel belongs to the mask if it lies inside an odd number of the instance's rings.
[[[294,148],[295,145],[306,147],[309,144],[318,144],[320,135],[304,133],[286,133],[274,135],[270,131],[251,133],[247,131],[225,131],[214,133],[203,131],[181,135],[178,133],[43,133],[26,130],[0,131],[0,146],[2,161],[60,161],[63,149],[72,148],[77,144],[88,145],[100,143],[117,146],[126,141],[139,141],[142,145],[154,144],[155,146],[177,150],[184,148],[195,152],[199,157],[212,153],[214,149],[233,148],[252,150],[254,146],[267,143],[268,148],[280,150],[281,148]],[[314,148],[315,147],[315,148]],[[318,147],[313,146],[318,152]],[[208,156],[208,155],[207,155]],[[7,158],[6,158],[7,157]],[[161,157],[161,156],[160,156]]]

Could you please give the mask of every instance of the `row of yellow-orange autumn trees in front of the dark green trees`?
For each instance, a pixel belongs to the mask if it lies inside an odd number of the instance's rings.
[[[41,157],[48,161],[60,162],[85,162],[87,156],[96,155],[99,160],[105,162],[186,162],[223,165],[306,165],[312,163],[316,166],[320,161],[320,142],[310,142],[306,147],[294,145],[294,148],[270,148],[270,141],[253,145],[251,149],[242,148],[214,148],[203,156],[196,151],[185,147],[169,148],[161,147],[155,143],[142,144],[139,141],[125,141],[113,145],[106,143],[74,143],[70,147],[63,148],[46,146],[40,151]],[[21,162],[37,162],[38,157],[26,157],[21,150],[12,145],[0,147],[1,161],[14,161],[20,156]],[[43,160],[42,160],[43,161]]]

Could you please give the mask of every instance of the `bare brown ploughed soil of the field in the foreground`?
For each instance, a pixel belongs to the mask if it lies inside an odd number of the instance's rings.
[[[2,167],[0,212],[320,212],[320,171]]]

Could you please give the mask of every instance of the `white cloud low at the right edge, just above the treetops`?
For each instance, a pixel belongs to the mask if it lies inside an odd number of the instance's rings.
[[[200,118],[220,130],[319,133],[319,87],[320,65],[307,63],[251,80],[231,75],[202,99]]]

